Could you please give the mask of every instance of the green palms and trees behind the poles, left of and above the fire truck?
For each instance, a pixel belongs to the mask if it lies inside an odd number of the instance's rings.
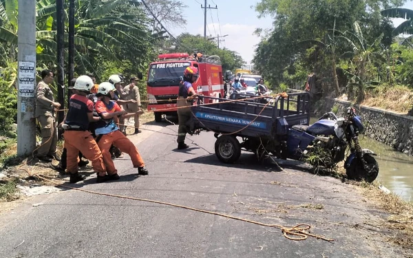
[[[182,12],[186,7],[184,1],[146,0],[145,3],[148,8],[140,1],[75,1],[75,76],[92,73],[98,81],[107,80],[111,74],[142,72],[146,76],[149,63],[158,54],[166,52],[192,54],[193,51],[203,51],[208,55],[219,55],[224,69],[235,69],[242,64],[242,58],[236,52],[220,50],[200,35],[182,34],[178,41],[169,37],[165,28],[186,23]],[[18,13],[18,0],[0,0],[0,131],[10,129],[17,119]],[[68,13],[66,3],[65,67],[68,67]],[[38,71],[52,69],[56,72],[56,47],[56,0],[36,0]],[[140,87],[146,96],[145,83]]]

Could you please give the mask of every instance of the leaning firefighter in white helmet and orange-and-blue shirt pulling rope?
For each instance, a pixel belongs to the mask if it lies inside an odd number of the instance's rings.
[[[120,151],[129,154],[134,168],[138,168],[138,175],[147,175],[148,171],[145,169],[145,163],[140,157],[138,149],[136,149],[133,142],[120,132],[119,127],[114,122],[114,118],[126,114],[126,111],[121,109],[115,101],[111,101],[111,98],[113,98],[112,89],[113,85],[111,83],[100,83],[98,88],[100,100],[95,106],[96,112],[103,118],[103,120],[96,123],[95,134],[100,151],[102,151],[109,180],[119,179],[118,171],[109,151],[112,144]]]

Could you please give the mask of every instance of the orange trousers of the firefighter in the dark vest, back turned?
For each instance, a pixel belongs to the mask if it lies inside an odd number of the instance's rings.
[[[89,131],[65,131],[65,148],[67,150],[67,172],[78,171],[79,151],[92,162],[93,169],[100,176],[106,175],[106,166],[98,144]]]

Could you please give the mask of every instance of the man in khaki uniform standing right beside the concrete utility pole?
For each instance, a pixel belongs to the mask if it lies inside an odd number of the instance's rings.
[[[41,125],[41,146],[37,149],[37,158],[51,162],[52,158],[60,160],[57,156],[57,129],[54,120],[54,110],[59,109],[60,103],[54,102],[53,92],[49,84],[53,82],[53,72],[41,71],[41,81],[36,87],[36,112],[35,116]]]

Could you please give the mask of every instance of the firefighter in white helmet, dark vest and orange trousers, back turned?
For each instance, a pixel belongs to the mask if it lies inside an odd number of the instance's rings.
[[[61,123],[65,129],[65,148],[67,151],[67,173],[70,173],[70,182],[84,180],[85,175],[78,173],[79,151],[90,161],[94,171],[98,174],[97,182],[109,180],[106,175],[103,155],[89,129],[89,122],[98,122],[101,118],[93,116],[93,102],[87,98],[89,90],[94,86],[89,76],[79,76],[74,83],[74,94],[69,100],[69,111]]]

